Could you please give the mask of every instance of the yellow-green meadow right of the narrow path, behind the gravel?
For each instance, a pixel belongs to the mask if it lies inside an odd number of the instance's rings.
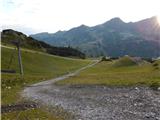
[[[118,62],[119,63],[119,62]],[[157,62],[158,63],[158,62]],[[160,85],[160,62],[159,69],[152,64],[144,63],[141,66],[122,64],[115,65],[114,62],[101,62],[96,66],[83,71],[80,75],[59,81],[57,84],[98,84],[111,86],[130,85]]]

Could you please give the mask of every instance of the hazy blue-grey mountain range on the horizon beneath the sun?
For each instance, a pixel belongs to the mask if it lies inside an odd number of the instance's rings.
[[[160,24],[156,17],[129,23],[113,18],[94,27],[81,25],[31,37],[54,46],[72,46],[88,56],[160,56]]]

